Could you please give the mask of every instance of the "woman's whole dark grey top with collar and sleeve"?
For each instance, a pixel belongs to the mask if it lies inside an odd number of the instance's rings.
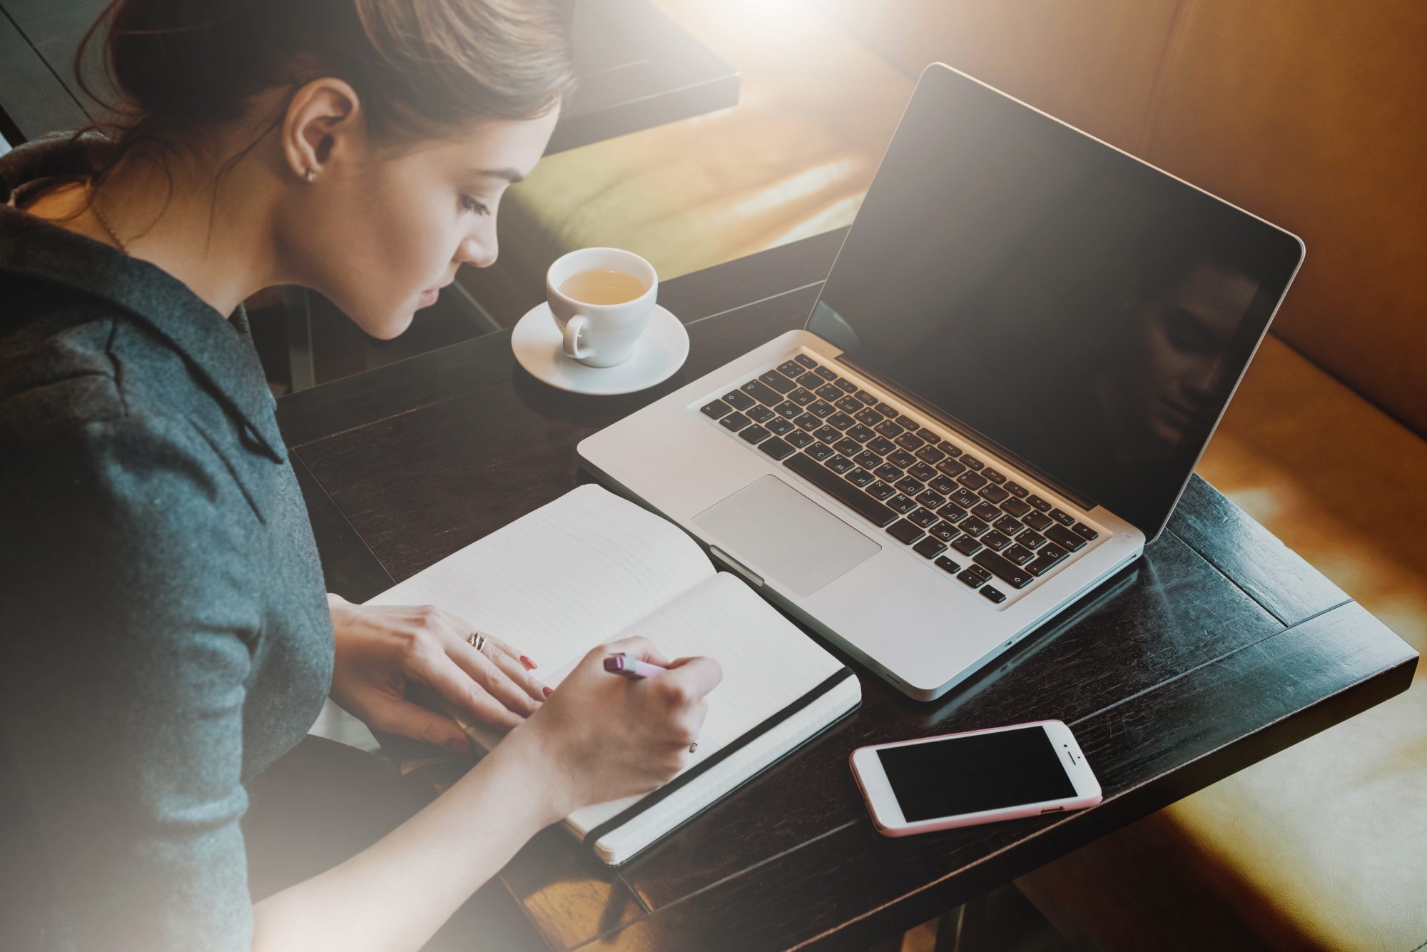
[[[244,782],[332,668],[273,410],[241,311],[0,207],[0,948],[250,946]]]

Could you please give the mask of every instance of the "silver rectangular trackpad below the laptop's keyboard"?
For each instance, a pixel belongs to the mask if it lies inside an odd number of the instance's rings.
[[[882,550],[772,474],[704,510],[694,524],[795,595],[812,595]]]

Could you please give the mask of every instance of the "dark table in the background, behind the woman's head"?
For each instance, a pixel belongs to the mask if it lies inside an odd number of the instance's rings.
[[[547,154],[738,103],[738,70],[648,0],[558,1],[574,9],[579,90]],[[11,146],[16,134],[33,138],[97,118],[74,81],[71,59],[108,3],[0,0],[0,111],[10,120],[0,120],[0,133]]]

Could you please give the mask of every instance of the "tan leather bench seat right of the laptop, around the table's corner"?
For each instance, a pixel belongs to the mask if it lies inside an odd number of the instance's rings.
[[[1200,472],[1421,651],[1427,442],[1269,337]],[[1023,881],[1107,949],[1427,942],[1427,688]]]

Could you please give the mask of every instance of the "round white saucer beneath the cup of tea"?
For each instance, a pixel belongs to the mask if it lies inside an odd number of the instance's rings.
[[[511,350],[531,377],[574,394],[632,394],[662,384],[684,365],[689,355],[689,333],[679,318],[654,305],[649,327],[634,345],[634,353],[614,367],[585,367],[565,357],[559,325],[541,301],[525,313],[511,331]]]

